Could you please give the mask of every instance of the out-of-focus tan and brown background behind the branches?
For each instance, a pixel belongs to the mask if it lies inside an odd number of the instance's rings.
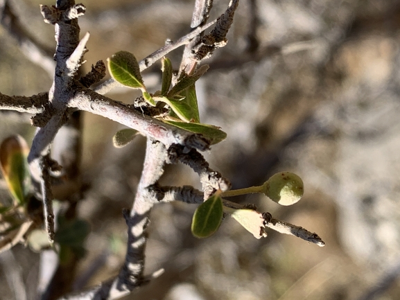
[[[211,18],[228,1],[214,0]],[[54,28],[44,24],[39,0],[13,0],[26,29],[53,48]],[[121,50],[138,60],[189,31],[193,0],[84,1],[81,32],[91,37],[85,70]],[[279,206],[248,195],[260,211],[318,233],[323,248],[268,231],[256,240],[225,220],[206,240],[191,236],[194,206],[153,209],[147,273],[165,273],[125,299],[391,300],[400,294],[400,2],[396,0],[241,0],[229,42],[205,61],[198,82],[202,123],[222,127],[227,139],[205,156],[233,188],[259,185],[290,170],[305,185],[302,201]],[[51,87],[0,27],[0,91],[31,96]],[[182,48],[169,55],[175,69]],[[145,83],[159,89],[159,64]],[[153,88],[151,88],[153,87]],[[133,103],[125,89],[107,94]],[[24,115],[1,112],[0,137],[34,129]],[[119,272],[130,208],[141,172],[145,140],[112,146],[122,129],[85,114],[82,178],[91,184],[78,204],[92,233],[74,288]],[[191,184],[186,166],[167,166],[162,184]],[[1,185],[4,188],[4,184]],[[9,197],[6,192],[1,197]],[[2,200],[3,201],[3,200]],[[0,299],[33,299],[39,255],[18,245],[0,255]]]

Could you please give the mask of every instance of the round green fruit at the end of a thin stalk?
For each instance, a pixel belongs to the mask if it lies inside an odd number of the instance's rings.
[[[281,172],[272,175],[263,184],[263,193],[278,204],[288,206],[298,202],[304,193],[302,179],[290,172]]]

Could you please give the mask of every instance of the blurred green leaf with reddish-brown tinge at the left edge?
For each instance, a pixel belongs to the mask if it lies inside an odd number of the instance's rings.
[[[29,148],[22,136],[10,136],[0,145],[0,167],[8,189],[17,204],[24,204],[31,188]]]

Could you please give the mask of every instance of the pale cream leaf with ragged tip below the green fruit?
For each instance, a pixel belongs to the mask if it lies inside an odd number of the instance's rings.
[[[239,222],[255,238],[266,237],[262,213],[252,209],[231,209],[224,206],[224,211],[231,213],[232,218]]]

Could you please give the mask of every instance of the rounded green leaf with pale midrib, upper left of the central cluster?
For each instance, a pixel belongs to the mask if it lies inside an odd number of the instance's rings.
[[[143,79],[134,55],[128,51],[119,51],[107,58],[108,69],[110,70],[112,78],[125,85],[125,87],[132,87],[133,89],[142,89],[146,91]]]

